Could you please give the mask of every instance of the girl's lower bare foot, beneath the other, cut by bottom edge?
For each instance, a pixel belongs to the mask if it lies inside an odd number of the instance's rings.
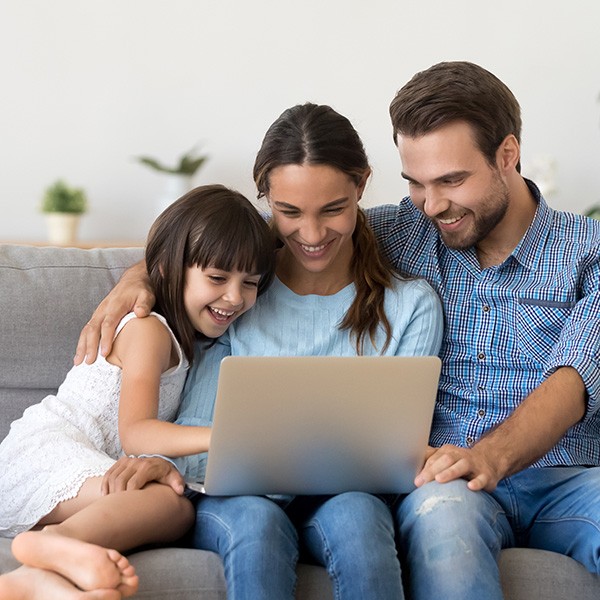
[[[116,589],[83,592],[51,571],[19,567],[0,576],[2,600],[121,600]]]

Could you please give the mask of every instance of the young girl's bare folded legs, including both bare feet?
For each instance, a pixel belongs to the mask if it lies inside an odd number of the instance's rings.
[[[0,577],[0,598],[54,600],[44,595],[44,575],[46,579],[55,575],[50,583],[57,590],[57,600],[131,596],[137,591],[138,577],[120,552],[174,541],[192,525],[194,516],[191,503],[169,486],[149,484],[142,490],[102,496],[100,479],[88,479],[77,498],[61,503],[40,521],[43,530],[27,531],[14,539],[13,554],[26,567]],[[58,591],[61,587],[63,595]],[[5,588],[13,591],[4,593]],[[82,590],[95,595],[82,595]]]

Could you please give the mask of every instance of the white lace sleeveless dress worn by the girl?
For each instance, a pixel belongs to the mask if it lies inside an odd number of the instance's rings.
[[[132,318],[133,313],[121,321],[117,334]],[[162,420],[175,417],[188,368],[170,333],[179,364],[161,377]],[[121,369],[99,357],[91,365],[73,367],[56,396],[30,406],[12,423],[0,444],[0,536],[30,529],[59,502],[74,498],[87,478],[104,475],[122,456],[120,389]]]

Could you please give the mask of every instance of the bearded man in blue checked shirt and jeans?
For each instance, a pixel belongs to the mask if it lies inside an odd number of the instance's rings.
[[[520,175],[519,105],[485,69],[440,63],[390,106],[410,198],[371,221],[442,298],[429,457],[398,509],[413,598],[502,598],[500,549],[600,573],[600,224]]]

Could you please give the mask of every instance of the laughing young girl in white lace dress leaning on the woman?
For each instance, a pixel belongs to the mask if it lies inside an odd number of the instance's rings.
[[[193,523],[168,485],[102,495],[102,476],[123,453],[208,449],[208,428],[168,421],[196,340],[210,345],[270,284],[273,237],[242,195],[204,186],[158,217],[145,262],[156,312],[123,318],[110,355],[73,367],[0,445],[0,534],[16,535],[24,565],[0,577],[3,599],[131,596],[138,579],[121,552],[174,541]]]

